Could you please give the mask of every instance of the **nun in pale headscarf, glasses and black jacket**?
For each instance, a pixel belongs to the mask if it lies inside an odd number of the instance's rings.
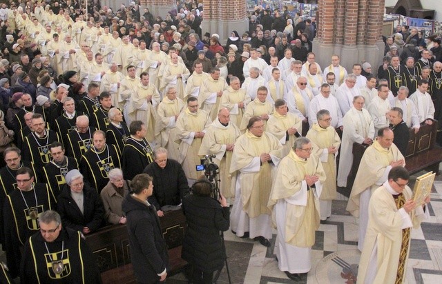
[[[97,190],[84,183],[79,170],[65,176],[68,186],[57,197],[57,212],[65,227],[90,234],[103,224],[104,208]]]

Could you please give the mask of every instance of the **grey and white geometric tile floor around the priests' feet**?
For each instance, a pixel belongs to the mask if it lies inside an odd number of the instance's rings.
[[[442,176],[436,177],[431,194],[430,219],[418,230],[412,230],[408,261],[408,283],[442,283]],[[316,232],[312,251],[312,268],[298,283],[352,283],[343,274],[343,267],[355,268],[360,257],[356,249],[358,224],[345,211],[347,198],[338,194],[333,201],[332,216]],[[249,239],[240,239],[230,231],[224,233],[231,283],[294,283],[280,272],[273,254],[276,235],[267,248]],[[0,252],[0,260],[5,260]],[[17,282],[18,283],[18,282]],[[166,283],[187,283],[183,273],[168,278]],[[229,283],[226,268],[217,283]]]

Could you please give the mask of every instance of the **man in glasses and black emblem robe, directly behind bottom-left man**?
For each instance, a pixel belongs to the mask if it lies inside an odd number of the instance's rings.
[[[34,172],[30,168],[20,168],[15,177],[18,190],[6,196],[3,208],[6,258],[12,278],[19,274],[23,245],[40,228],[39,216],[55,207],[48,185],[34,183]]]

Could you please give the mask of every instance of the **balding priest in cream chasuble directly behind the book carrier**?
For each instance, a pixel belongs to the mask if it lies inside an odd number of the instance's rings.
[[[372,192],[387,181],[392,168],[405,166],[403,154],[393,143],[393,130],[388,127],[378,130],[378,136],[365,150],[354,179],[347,211],[359,218],[358,250],[362,251],[368,224],[368,203]]]

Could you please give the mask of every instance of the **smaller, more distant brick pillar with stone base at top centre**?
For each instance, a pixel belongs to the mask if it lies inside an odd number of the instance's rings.
[[[201,23],[202,34],[219,34],[220,42],[225,44],[233,30],[238,34],[249,30],[245,0],[203,0],[204,18]]]

